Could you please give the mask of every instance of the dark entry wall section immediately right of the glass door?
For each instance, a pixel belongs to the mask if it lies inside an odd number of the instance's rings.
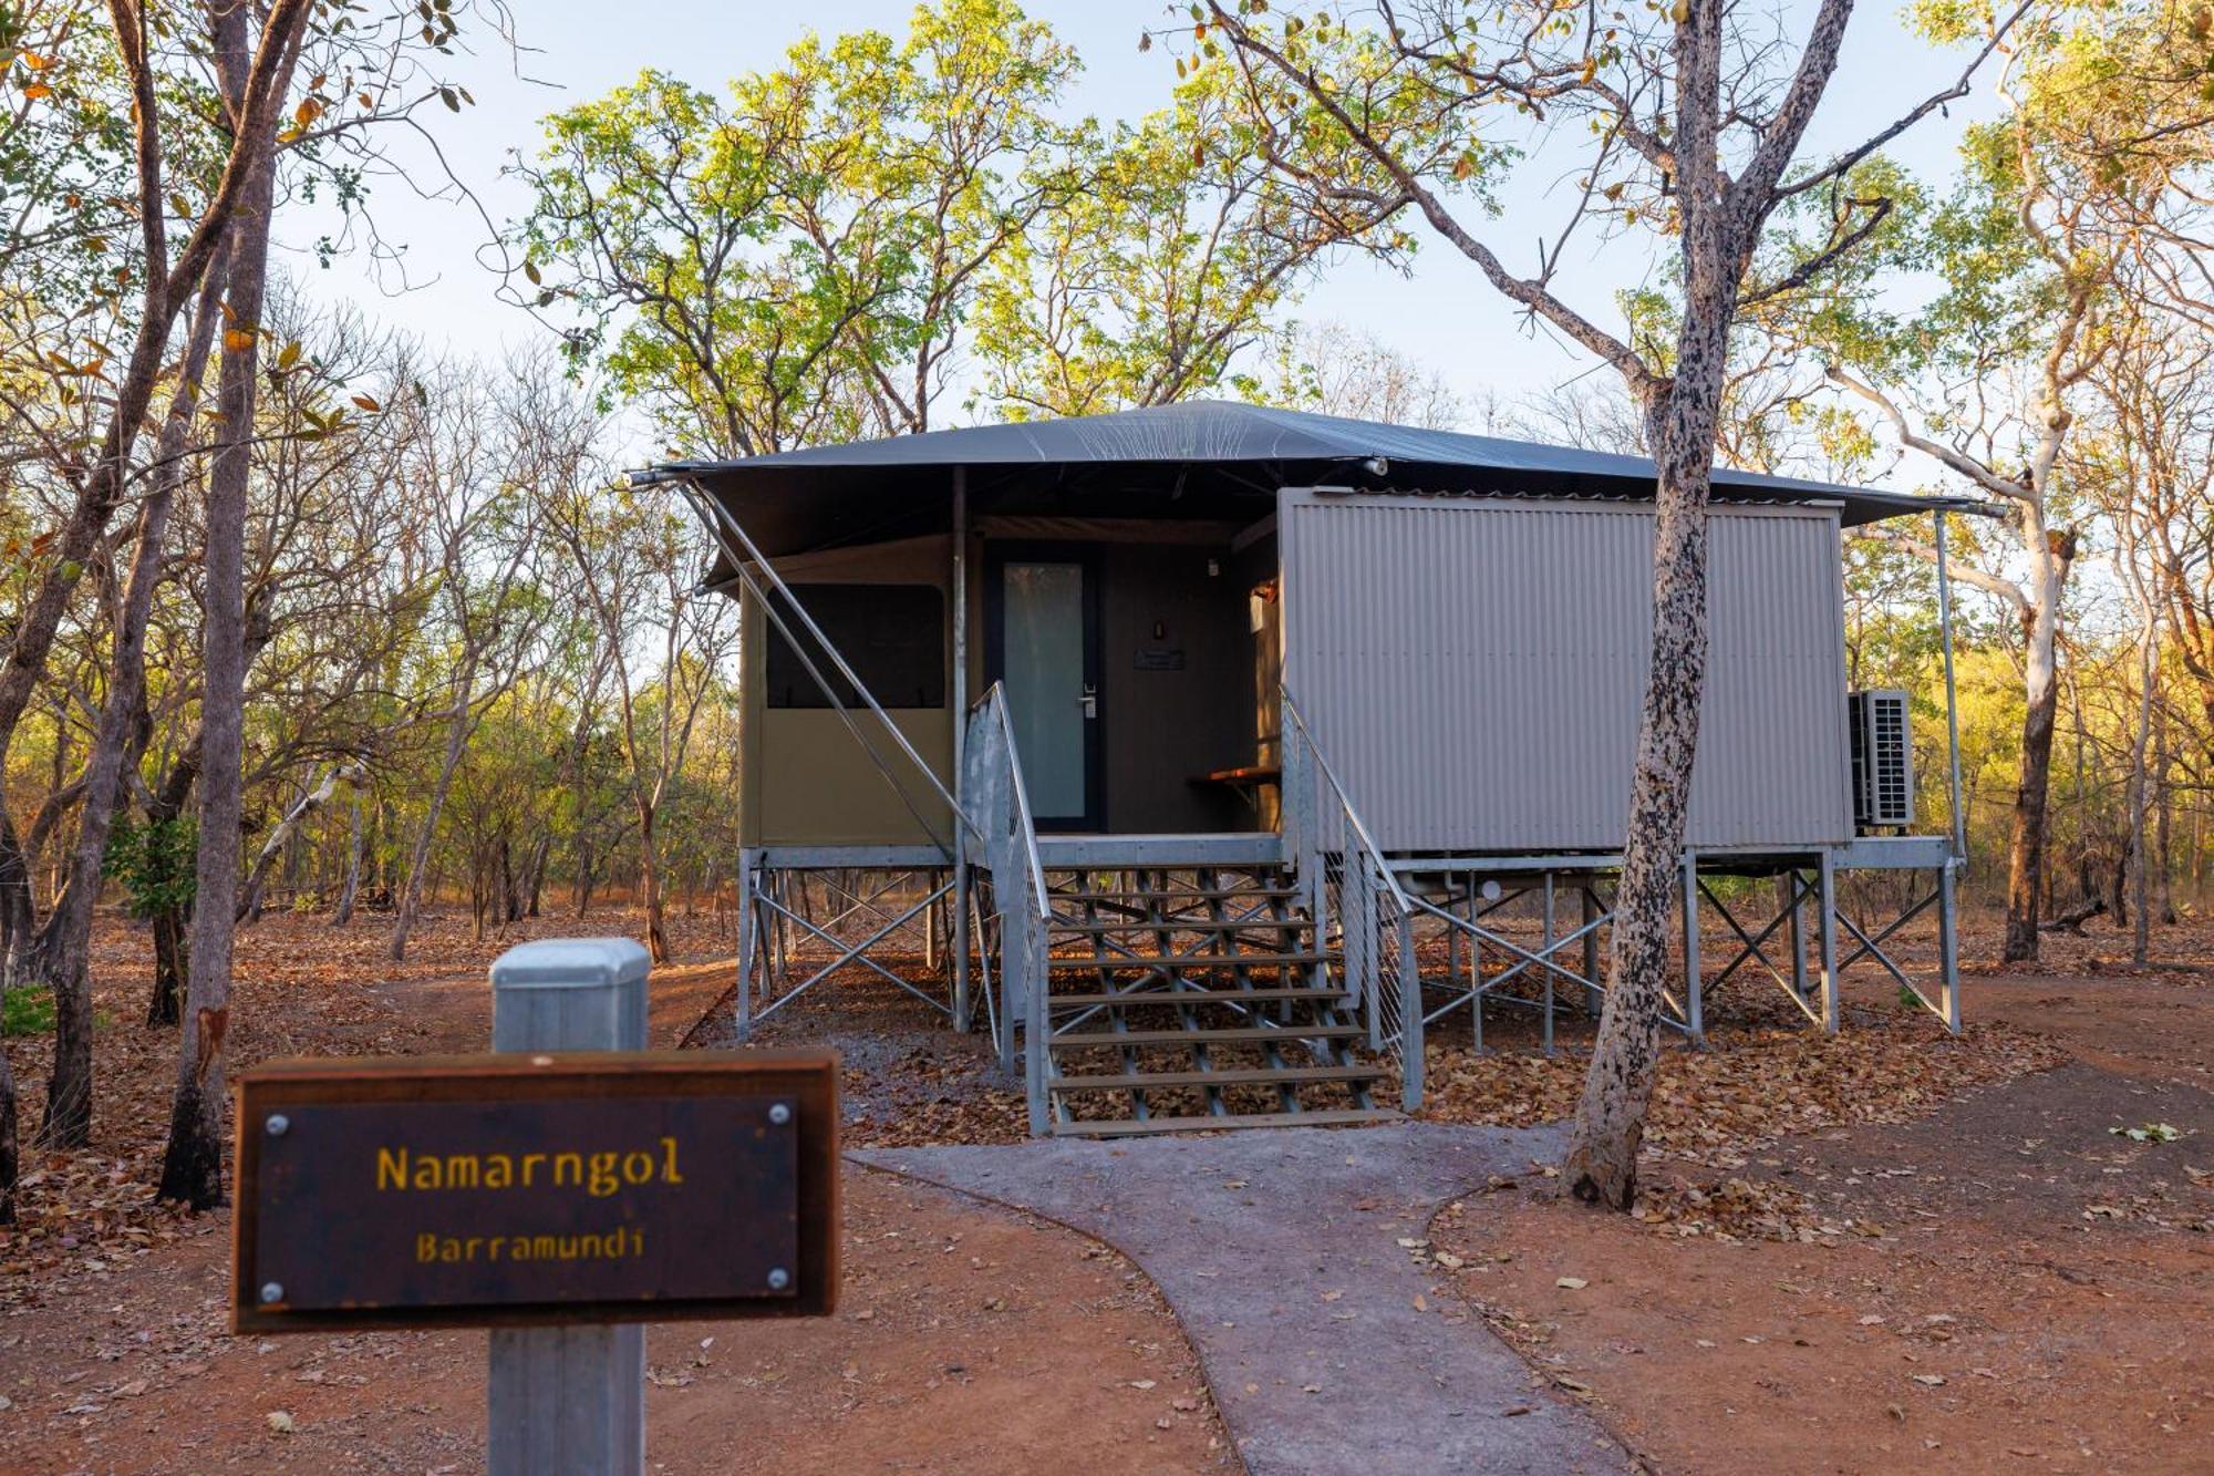
[[[1233,791],[1191,782],[1253,762],[1253,643],[1229,550],[1109,543],[1100,554],[1107,829],[1260,829]]]

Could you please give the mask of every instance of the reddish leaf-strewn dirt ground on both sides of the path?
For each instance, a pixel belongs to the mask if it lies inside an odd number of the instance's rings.
[[[1871,977],[1831,1042],[1773,986],[1716,991],[1716,1048],[1669,1053],[1636,1219],[1532,1166],[1415,1254],[1658,1472],[2214,1472],[2214,926],[2163,931],[2174,966],[2143,973],[2090,929],[1999,975],[1970,915],[1959,1039]],[[531,931],[438,920],[392,966],[379,920],[270,918],[241,933],[237,1057],[476,1048],[483,966]],[[680,920],[677,949],[655,1039],[717,1044],[693,1026],[726,940]],[[1926,964],[1931,937],[1902,953]],[[95,1146],[29,1155],[0,1232],[0,1472],[478,1469],[480,1334],[224,1332],[228,1217],[148,1206],[173,1042],[137,1024],[144,937],[106,924],[95,968]],[[1475,1055],[1446,1022],[1430,1115],[1561,1115],[1587,1035],[1563,1015],[1545,1059],[1501,1011]],[[762,1039],[846,1050],[855,1144],[1021,1135],[985,1044],[890,984],[839,980]],[[9,1042],[27,1128],[42,1048]],[[846,1203],[837,1319],[651,1334],[658,1469],[1235,1469],[1182,1330],[1116,1252],[859,1168]]]

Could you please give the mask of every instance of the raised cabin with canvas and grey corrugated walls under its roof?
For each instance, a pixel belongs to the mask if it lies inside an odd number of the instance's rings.
[[[1541,880],[1581,891],[1601,922],[1576,942],[1599,937],[1652,634],[1649,461],[1182,403],[640,476],[691,499],[722,547],[708,585],[744,607],[742,875],[768,931],[742,929],[742,953],[777,929],[881,929],[837,968],[928,926],[965,1024],[972,924],[1007,953],[1012,893],[1043,891],[1047,924],[1083,913],[1096,942],[1100,873],[1149,906],[1286,893],[1333,957],[1362,942],[1346,909],[1382,898],[1486,944],[1481,909]],[[1866,703],[1844,669],[1840,532],[1935,508],[1714,474],[1694,902],[1716,867],[1789,873],[1813,898],[1835,864],[1951,864],[1944,838],[1862,804]],[[1893,716],[1882,765],[1900,780]],[[1908,849],[1869,849],[1871,829]],[[866,926],[801,922],[804,873],[844,878],[830,911]],[[863,873],[921,900],[892,909]],[[1047,931],[1045,951],[1078,935]],[[828,973],[742,962],[759,980],[742,1011]],[[1481,1008],[1481,975],[1459,988]],[[1428,1011],[1388,1013],[1419,1028]],[[1012,1042],[1016,1022],[996,1028]]]

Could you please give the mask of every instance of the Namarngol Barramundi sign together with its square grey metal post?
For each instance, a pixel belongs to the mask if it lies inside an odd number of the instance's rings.
[[[494,1055],[241,1073],[232,1328],[492,1328],[487,1467],[644,1469],[649,1321],[837,1303],[837,1053],[646,1053],[646,951],[492,966]]]

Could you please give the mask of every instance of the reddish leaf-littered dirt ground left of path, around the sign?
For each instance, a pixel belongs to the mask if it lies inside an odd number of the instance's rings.
[[[100,977],[144,977],[139,942],[102,929]],[[239,1057],[480,1048],[483,964],[511,942],[441,920],[394,968],[374,920],[268,918],[241,933]],[[677,946],[720,944],[700,924]],[[658,973],[655,1042],[726,975]],[[0,1230],[0,1472],[480,1469],[483,1334],[226,1334],[230,1217],[144,1210],[168,1035],[135,1024],[131,988],[100,1006],[95,1148],[31,1155],[27,1223]],[[35,1124],[42,1066],[11,1048]],[[852,1168],[844,1259],[835,1319],[653,1328],[653,1469],[1003,1472],[1045,1449],[1085,1472],[1235,1467],[1182,1330],[1116,1252]]]

